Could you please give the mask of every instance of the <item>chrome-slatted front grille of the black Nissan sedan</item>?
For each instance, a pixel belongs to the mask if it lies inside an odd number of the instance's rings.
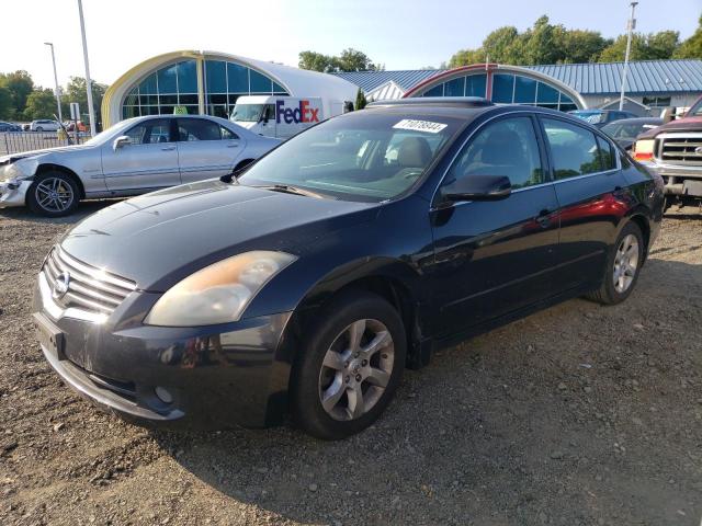
[[[136,290],[136,283],[78,261],[58,245],[46,258],[43,270],[54,300],[64,308],[111,315]],[[57,282],[65,274],[69,276],[68,290],[60,295],[56,293]]]

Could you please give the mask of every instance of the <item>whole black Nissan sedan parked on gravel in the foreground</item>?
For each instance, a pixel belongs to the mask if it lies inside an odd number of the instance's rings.
[[[315,436],[375,421],[441,345],[626,299],[663,184],[597,128],[483,100],[376,104],[244,173],[112,205],[47,255],[44,355],[132,421]]]

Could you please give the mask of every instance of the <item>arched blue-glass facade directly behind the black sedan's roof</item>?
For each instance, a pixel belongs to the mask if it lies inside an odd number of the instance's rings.
[[[587,107],[580,94],[553,77],[518,66],[475,65],[434,75],[405,93],[412,96],[484,96],[568,112]]]

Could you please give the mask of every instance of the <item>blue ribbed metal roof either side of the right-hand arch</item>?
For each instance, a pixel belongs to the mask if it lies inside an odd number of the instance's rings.
[[[623,62],[556,64],[528,66],[553,77],[582,95],[610,95],[621,88]],[[665,94],[675,92],[702,92],[702,60],[639,60],[629,64],[626,93]],[[388,80],[405,91],[422,80],[444,72],[444,69],[412,69],[400,71],[351,71],[333,73],[353,82],[365,93]]]

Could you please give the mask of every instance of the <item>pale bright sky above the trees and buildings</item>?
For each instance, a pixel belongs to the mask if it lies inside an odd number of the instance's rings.
[[[605,37],[625,31],[629,0],[83,0],[90,72],[111,83],[136,64],[177,49],[216,50],[297,66],[297,54],[365,53],[386,69],[439,67],[475,48],[492,30],[520,31],[546,14],[568,28]],[[83,76],[77,0],[2,0],[0,72],[27,70],[53,88]],[[639,0],[636,31],[698,25],[702,0]],[[12,23],[11,21],[18,21]]]

